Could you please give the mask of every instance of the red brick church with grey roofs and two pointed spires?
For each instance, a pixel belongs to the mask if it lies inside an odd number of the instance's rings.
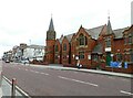
[[[112,30],[109,18],[108,24],[93,29],[81,25],[75,33],[60,39],[55,35],[51,18],[44,55],[49,64],[76,67],[80,61],[83,68],[112,70],[111,62],[114,62],[121,64],[113,67],[114,72],[133,73],[133,25]]]

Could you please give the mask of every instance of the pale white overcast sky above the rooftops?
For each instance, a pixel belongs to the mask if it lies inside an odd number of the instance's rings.
[[[131,25],[133,0],[0,0],[0,56],[20,43],[45,45],[51,17],[57,37],[108,23]]]

